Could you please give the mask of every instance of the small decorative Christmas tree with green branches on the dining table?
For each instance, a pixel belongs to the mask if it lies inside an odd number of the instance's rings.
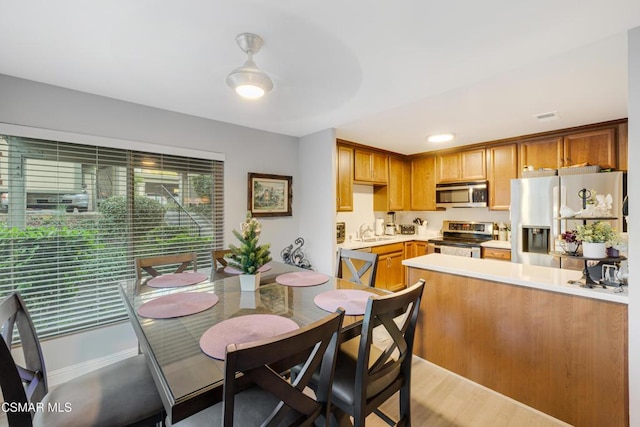
[[[234,236],[240,241],[240,246],[229,245],[231,255],[229,265],[244,274],[256,274],[258,269],[271,261],[270,244],[258,245],[261,226],[257,219],[247,212],[247,219],[241,224],[242,233],[233,230]]]

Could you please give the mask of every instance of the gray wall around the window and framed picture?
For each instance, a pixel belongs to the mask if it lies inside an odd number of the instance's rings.
[[[308,257],[332,271],[335,241],[335,135],[326,130],[302,139],[122,102],[0,74],[2,124],[131,141],[131,149],[173,152],[173,147],[225,156],[225,245],[235,241],[247,210],[247,173],[293,177],[293,216],[263,218],[261,242],[272,255],[303,236]],[[6,126],[5,126],[6,127]],[[65,134],[63,134],[65,135]],[[62,138],[60,138],[62,139]],[[72,142],[79,142],[75,139]],[[303,147],[302,149],[300,147]],[[300,167],[300,164],[304,167]],[[310,188],[306,188],[310,186]],[[309,219],[305,217],[309,215]],[[45,343],[49,370],[64,370],[101,356],[135,348],[128,325],[75,334]],[[83,350],[84,349],[84,350]]]

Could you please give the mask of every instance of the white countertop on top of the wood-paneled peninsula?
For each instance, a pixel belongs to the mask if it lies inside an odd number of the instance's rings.
[[[569,280],[578,280],[582,276],[582,272],[576,270],[481,258],[465,258],[464,262],[460,262],[460,257],[442,254],[410,258],[402,261],[402,264],[408,267],[526,286],[545,291],[578,295],[621,304],[629,303],[629,294],[626,287],[624,292],[616,293],[612,287],[590,289],[581,288],[579,285],[570,285],[567,283]]]

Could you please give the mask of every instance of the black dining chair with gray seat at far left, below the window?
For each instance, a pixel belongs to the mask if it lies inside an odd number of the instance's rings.
[[[162,422],[164,408],[144,355],[67,381],[51,391],[40,342],[19,293],[0,302],[0,389],[9,407],[10,427],[150,426]],[[17,326],[17,329],[15,328]],[[19,346],[13,344],[17,331]],[[24,363],[14,354],[22,350]]]

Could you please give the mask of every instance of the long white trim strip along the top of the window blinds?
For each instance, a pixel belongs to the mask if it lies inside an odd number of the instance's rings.
[[[215,151],[201,151],[190,148],[173,147],[170,145],[151,144],[141,141],[127,141],[125,139],[108,138],[104,136],[87,135],[82,133],[64,132],[54,129],[21,126],[0,122],[0,134],[22,136],[26,138],[46,139],[52,141],[73,142],[76,144],[94,145],[98,147],[121,148],[124,150],[147,151],[159,154],[193,157],[196,159],[225,160],[224,153]]]

